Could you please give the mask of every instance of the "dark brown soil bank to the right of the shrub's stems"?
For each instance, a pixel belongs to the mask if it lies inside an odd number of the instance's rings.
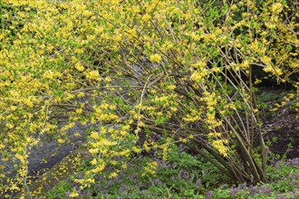
[[[283,101],[290,90],[260,88],[257,99],[266,107],[261,110],[262,131],[270,153],[286,155],[287,158],[299,157],[299,118],[294,109],[294,101],[273,111],[275,103]]]

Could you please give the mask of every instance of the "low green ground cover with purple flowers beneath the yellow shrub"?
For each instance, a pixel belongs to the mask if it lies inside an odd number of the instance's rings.
[[[156,175],[144,174],[144,163],[159,163]],[[82,166],[82,170],[88,166]],[[233,185],[210,163],[183,152],[179,147],[168,160],[140,156],[113,179],[96,176],[96,183],[80,190],[73,177],[60,182],[45,198],[298,198],[299,159],[272,159],[265,184]],[[81,177],[80,172],[75,177]]]

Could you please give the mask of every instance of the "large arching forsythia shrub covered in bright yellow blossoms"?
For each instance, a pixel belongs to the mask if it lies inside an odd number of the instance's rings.
[[[118,177],[140,154],[157,158],[143,161],[155,175],[158,160],[178,144],[233,182],[265,182],[268,149],[255,84],[293,85],[284,102],[298,110],[294,1],[3,0],[0,6],[4,197],[34,197],[32,150],[47,137],[70,142],[67,131],[78,124],[86,127],[92,156],[74,179],[80,190],[96,185],[98,175]]]

